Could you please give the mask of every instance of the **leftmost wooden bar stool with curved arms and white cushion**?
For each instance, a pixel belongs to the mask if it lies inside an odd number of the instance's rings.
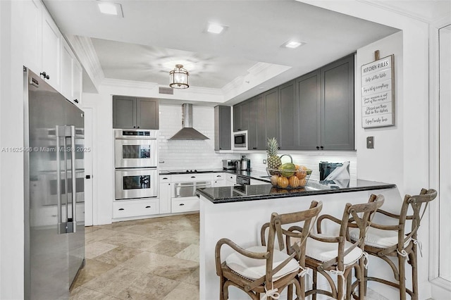
[[[216,243],[216,274],[220,277],[219,299],[228,299],[228,287],[233,286],[246,292],[251,299],[260,300],[260,294],[265,294],[266,299],[278,299],[280,292],[288,287],[288,299],[292,299],[292,286],[296,287],[297,299],[301,299],[297,273],[299,273],[299,261],[295,258],[297,252],[288,255],[283,249],[284,234],[283,225],[303,223],[304,228],[310,228],[313,218],[321,211],[323,204],[312,201],[306,211],[295,213],[272,213],[271,221],[263,225],[261,231],[268,228],[268,239],[262,238],[262,246],[253,246],[243,249],[230,239],[220,239]],[[299,239],[307,239],[309,230],[304,230]],[[278,248],[275,239],[278,239]],[[226,260],[221,260],[221,247],[230,246],[235,252]]]

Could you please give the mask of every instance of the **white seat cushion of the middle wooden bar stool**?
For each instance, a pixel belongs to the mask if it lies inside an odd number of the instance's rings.
[[[321,235],[319,235],[321,236]],[[345,242],[345,251],[350,248],[353,244],[351,242]],[[326,243],[321,242],[316,239],[312,239],[311,237],[307,238],[307,246],[306,246],[306,256],[316,259],[316,261],[330,261],[338,256],[338,247],[337,243]],[[345,265],[350,265],[359,260],[362,256],[362,249],[356,247],[352,249],[352,251],[345,256],[344,263]]]

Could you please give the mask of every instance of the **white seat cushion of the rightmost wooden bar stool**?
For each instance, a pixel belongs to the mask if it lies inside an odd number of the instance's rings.
[[[359,239],[359,230],[350,230],[350,238],[352,241]],[[410,238],[404,242],[404,247],[407,247]],[[374,227],[369,227],[365,235],[365,244],[376,248],[388,248],[397,244],[397,231],[394,230],[380,230]]]

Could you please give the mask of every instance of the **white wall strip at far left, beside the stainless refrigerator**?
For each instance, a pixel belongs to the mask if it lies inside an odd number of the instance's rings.
[[[0,1],[0,149],[23,146],[21,1]],[[23,152],[0,151],[0,299],[23,299]]]

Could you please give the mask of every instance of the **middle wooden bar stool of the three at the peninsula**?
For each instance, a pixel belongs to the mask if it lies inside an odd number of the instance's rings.
[[[364,299],[364,237],[371,222],[371,216],[382,206],[384,197],[372,194],[364,204],[346,204],[341,220],[332,215],[321,215],[316,222],[317,235],[313,233],[307,238],[305,265],[313,270],[313,287],[306,292],[306,296],[325,294],[335,299],[347,299],[351,295],[351,273],[355,269],[355,276],[360,282],[359,299]],[[321,222],[331,220],[340,225],[338,236],[326,235],[321,231]],[[351,242],[349,227],[357,227],[358,239]],[[318,273],[326,278],[331,291],[319,289],[317,285]],[[334,276],[332,276],[333,274]],[[337,286],[333,277],[337,275]]]

